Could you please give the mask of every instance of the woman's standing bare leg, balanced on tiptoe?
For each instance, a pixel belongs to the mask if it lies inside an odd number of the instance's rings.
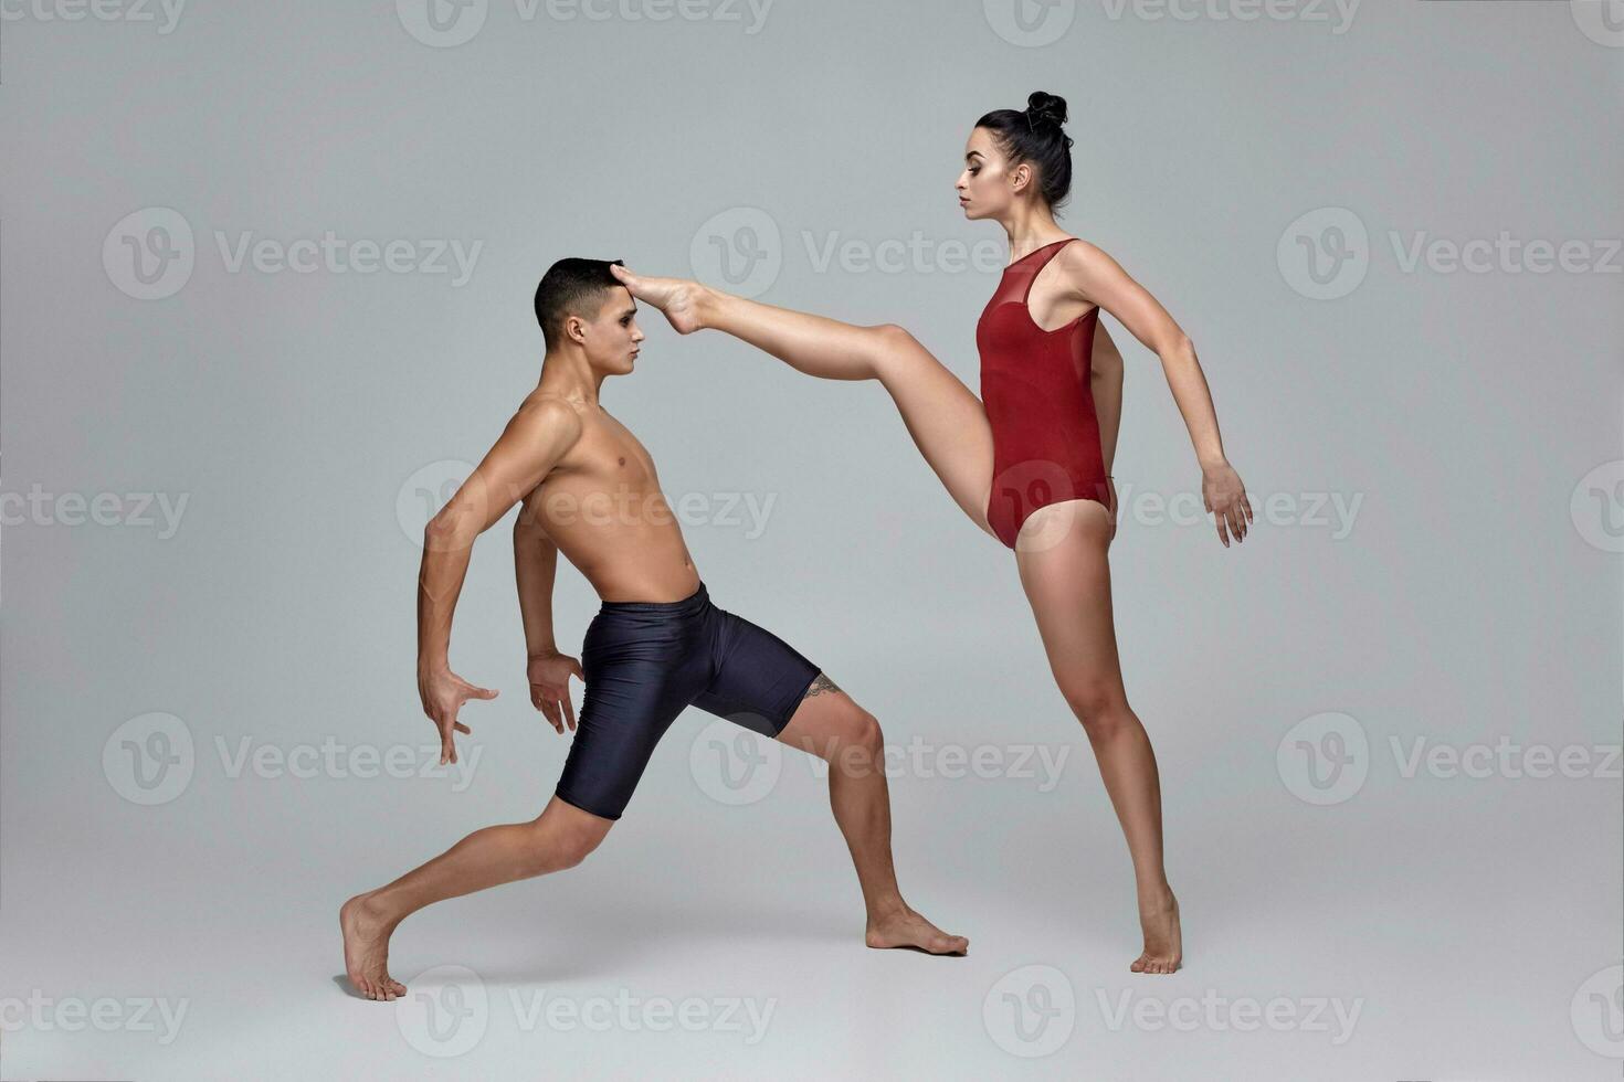
[[[1179,968],[1179,904],[1161,865],[1161,782],[1145,727],[1127,704],[1111,613],[1111,513],[1093,500],[1039,508],[1015,540],[1021,587],[1065,702],[1088,733],[1134,858],[1145,951],[1135,973]],[[1041,537],[1039,543],[1023,542]]]

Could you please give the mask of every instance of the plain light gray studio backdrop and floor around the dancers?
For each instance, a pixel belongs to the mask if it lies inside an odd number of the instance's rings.
[[[1619,1077],[1621,8],[8,3],[0,1076]],[[1127,852],[1015,565],[882,389],[648,310],[604,404],[693,496],[715,600],[880,717],[905,894],[970,955],[866,951],[827,782],[786,753],[726,803],[690,711],[586,865],[432,907],[393,944],[419,994],[344,996],[339,902],[533,818],[567,753],[510,516],[453,629],[500,689],[469,775],[378,769],[434,743],[414,530],[534,386],[539,274],[731,273],[974,388],[1002,235],[952,185],[1033,89],[1072,110],[1062,227],[1190,333],[1259,511],[1224,550],[1143,500],[1199,470],[1106,321],[1184,970],[1127,972]],[[271,269],[328,232],[416,269]],[[560,569],[567,650],[594,610]]]

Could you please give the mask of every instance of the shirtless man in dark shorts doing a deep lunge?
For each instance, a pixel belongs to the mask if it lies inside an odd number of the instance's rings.
[[[862,887],[867,946],[966,954],[968,939],[916,913],[896,887],[879,722],[789,644],[711,605],[653,459],[599,404],[603,381],[630,373],[643,341],[637,305],[609,266],[560,260],[541,279],[541,381],[425,527],[417,581],[417,693],[440,730],[440,762],[456,762],[453,732],[471,732],[456,720],[461,704],[497,693],[451,672],[451,613],[474,539],[523,501],[513,555],[531,704],[559,733],[568,722],[570,754],[536,819],[474,831],[344,902],[351,983],[369,999],[406,993],[388,975],[390,934],[430,902],[580,865],[690,704],[830,762],[830,805]],[[585,668],[552,636],[560,552],[604,602],[581,644]],[[586,685],[578,727],[570,673]]]

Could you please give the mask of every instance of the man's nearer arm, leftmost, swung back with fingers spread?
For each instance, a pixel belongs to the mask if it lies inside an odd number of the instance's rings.
[[[564,402],[542,399],[520,409],[484,461],[468,475],[422,537],[417,574],[417,693],[424,714],[440,730],[440,762],[456,762],[451,732],[469,732],[456,711],[469,698],[492,699],[450,668],[451,613],[468,576],[474,539],[490,529],[564,457],[581,435],[581,422]]]

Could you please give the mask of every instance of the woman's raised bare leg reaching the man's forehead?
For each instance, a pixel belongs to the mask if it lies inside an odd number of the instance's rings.
[[[913,436],[914,446],[953,501],[981,529],[992,492],[992,427],[958,376],[913,334],[895,323],[854,326],[838,320],[763,305],[687,279],[650,277],[612,268],[638,300],[671,321],[679,334],[711,328],[778,357],[820,380],[879,380]]]

